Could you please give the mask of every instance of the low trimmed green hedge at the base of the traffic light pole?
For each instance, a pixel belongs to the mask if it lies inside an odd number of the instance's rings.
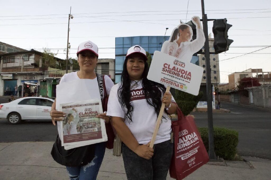
[[[198,128],[202,141],[208,152],[208,128]],[[214,127],[215,154],[225,160],[233,160],[237,152],[238,131]]]

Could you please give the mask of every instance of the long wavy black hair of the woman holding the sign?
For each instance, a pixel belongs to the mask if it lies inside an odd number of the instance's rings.
[[[131,94],[130,94],[130,84],[131,80],[127,71],[127,61],[128,58],[126,57],[124,64],[123,64],[123,70],[121,74],[121,85],[118,89],[118,97],[119,97],[119,102],[121,103],[121,106],[124,110],[124,107],[127,108],[127,113],[125,116],[128,118],[129,123],[132,123],[132,112],[134,110],[133,104],[130,102],[131,99]],[[143,87],[143,92],[145,95],[145,98],[147,100],[147,103],[152,106],[157,114],[157,117],[160,112],[160,108],[162,105],[161,101],[161,91],[163,94],[166,92],[166,87],[164,85],[156,83],[154,81],[148,80],[147,75],[149,72],[149,67],[148,63],[146,60],[144,60],[145,63],[145,68],[142,73],[142,87]],[[143,113],[143,112],[142,112]],[[163,118],[165,118],[163,116]]]

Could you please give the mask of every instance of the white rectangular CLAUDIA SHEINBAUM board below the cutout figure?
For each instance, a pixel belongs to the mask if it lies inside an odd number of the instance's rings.
[[[147,78],[196,96],[202,74],[202,67],[155,51]]]

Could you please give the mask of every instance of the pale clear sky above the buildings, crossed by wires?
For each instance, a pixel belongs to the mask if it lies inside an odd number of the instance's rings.
[[[204,3],[208,19],[227,18],[233,25],[228,36],[234,42],[219,54],[220,82],[227,83],[228,74],[249,68],[271,72],[271,1]],[[74,17],[70,19],[70,57],[76,57],[81,42],[91,40],[99,47],[99,58],[115,58],[115,37],[164,36],[166,28],[166,36],[170,36],[180,20],[188,22],[195,15],[202,18],[200,0],[13,0],[1,3],[0,41],[27,50],[42,52],[47,48],[66,59],[63,50],[67,47],[70,7]],[[208,33],[213,37],[212,25],[209,21]]]

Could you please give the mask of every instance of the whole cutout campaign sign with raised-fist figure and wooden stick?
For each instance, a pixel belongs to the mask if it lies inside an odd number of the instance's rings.
[[[167,85],[166,92],[170,87],[198,95],[199,86],[203,74],[203,68],[190,63],[194,53],[204,46],[205,36],[198,16],[192,17],[196,25],[197,37],[192,39],[192,28],[187,24],[180,24],[173,29],[169,41],[163,43],[161,52],[155,51],[151,61],[147,78],[149,80]],[[165,103],[162,104],[150,147],[153,147],[164,112]]]

